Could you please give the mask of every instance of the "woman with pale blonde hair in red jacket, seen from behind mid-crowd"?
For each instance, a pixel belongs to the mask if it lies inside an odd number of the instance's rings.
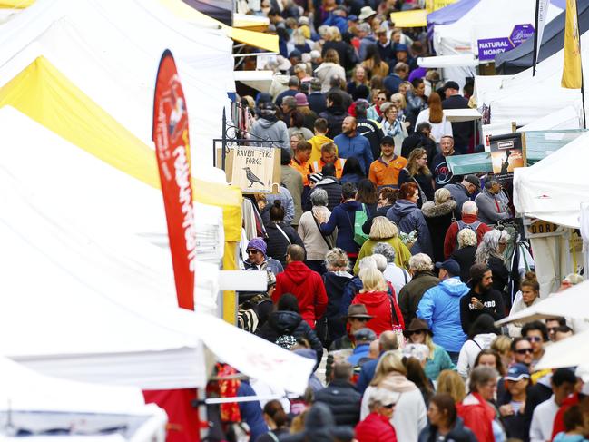
[[[359,277],[363,288],[354,297],[352,304],[364,304],[368,315],[374,317],[368,321],[366,327],[372,329],[378,336],[383,331],[392,330],[393,325],[400,327],[398,319],[393,319],[393,310],[397,302],[393,299],[393,295],[388,293],[387,282],[380,270],[362,269]],[[397,309],[395,309],[395,317],[400,318]]]

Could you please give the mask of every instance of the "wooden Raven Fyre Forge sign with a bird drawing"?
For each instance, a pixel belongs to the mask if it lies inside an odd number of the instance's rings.
[[[227,155],[227,180],[244,193],[280,192],[280,149],[238,146]]]

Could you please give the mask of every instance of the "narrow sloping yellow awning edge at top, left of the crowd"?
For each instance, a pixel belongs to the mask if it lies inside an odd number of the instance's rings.
[[[235,41],[250,44],[251,46],[266,49],[267,51],[279,52],[278,35],[258,33],[225,25],[209,15],[202,14],[190,5],[186,5],[182,0],[160,0],[160,4],[182,20],[200,25],[215,26],[223,29],[227,33],[227,36]]]

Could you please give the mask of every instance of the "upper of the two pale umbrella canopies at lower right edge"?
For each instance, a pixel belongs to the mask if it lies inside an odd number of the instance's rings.
[[[498,320],[496,325],[557,317],[589,319],[589,281],[577,284],[562,293],[554,293],[532,307]]]

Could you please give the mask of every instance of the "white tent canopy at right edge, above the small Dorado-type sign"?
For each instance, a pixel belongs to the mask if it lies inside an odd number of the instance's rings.
[[[514,171],[514,205],[531,218],[579,227],[581,203],[589,201],[589,133],[531,167]]]

